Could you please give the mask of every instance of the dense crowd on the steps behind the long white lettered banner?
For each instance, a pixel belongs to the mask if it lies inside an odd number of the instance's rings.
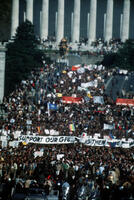
[[[0,122],[1,134],[13,137],[19,131],[24,135],[79,136],[86,132],[91,136],[100,133],[104,138],[109,135],[104,124],[109,124],[114,127],[115,138],[134,138],[134,108],[117,106],[105,94],[105,81],[113,73],[101,65],[71,68],[64,64],[46,65],[39,71],[32,71],[29,80],[22,80],[3,100],[8,115]],[[113,81],[116,87],[116,78]],[[79,97],[82,101],[64,103],[64,96]],[[49,103],[57,109],[49,110]],[[69,129],[70,124],[75,130]]]

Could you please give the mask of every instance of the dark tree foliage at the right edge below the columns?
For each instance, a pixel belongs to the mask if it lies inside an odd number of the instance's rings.
[[[102,64],[134,71],[134,40],[127,40],[117,53],[105,55]]]

